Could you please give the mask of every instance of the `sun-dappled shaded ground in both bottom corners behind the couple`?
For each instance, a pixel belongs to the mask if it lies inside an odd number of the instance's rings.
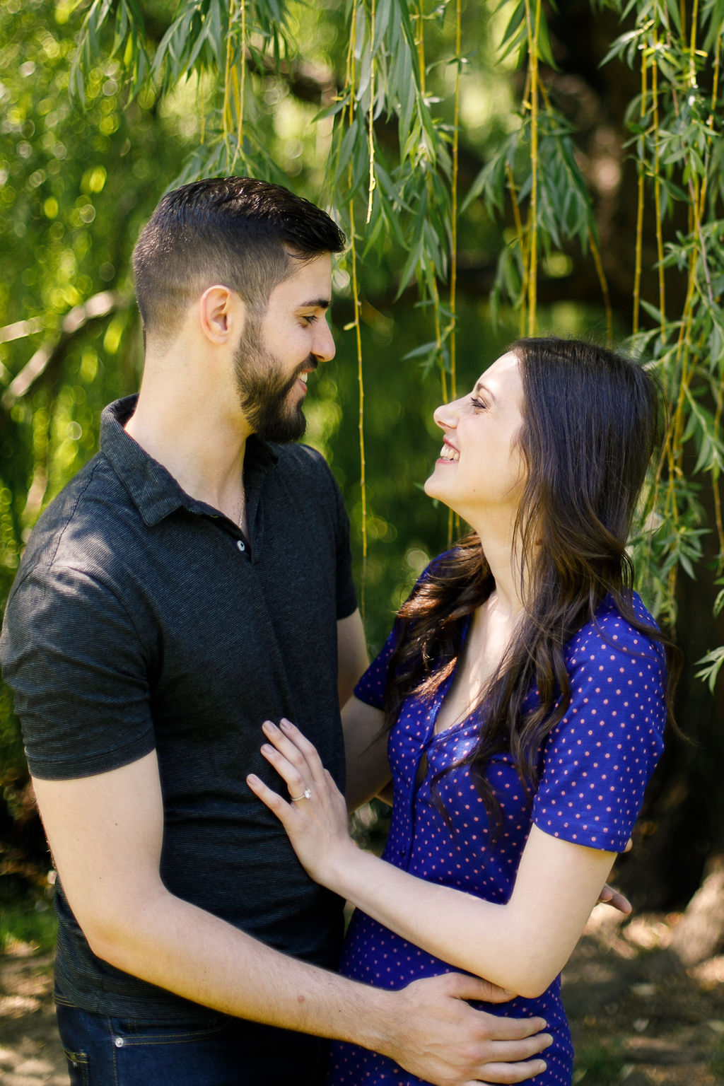
[[[566,973],[576,1086],[724,1086],[724,956],[683,971],[672,924],[621,924],[599,907]],[[0,956],[0,1083],[67,1086],[52,1009],[52,958]]]

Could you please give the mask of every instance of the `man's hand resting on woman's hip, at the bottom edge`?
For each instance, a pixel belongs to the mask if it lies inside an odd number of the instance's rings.
[[[520,1083],[545,1071],[545,1062],[533,1058],[552,1040],[539,1032],[543,1019],[498,1018],[466,1002],[511,998],[487,981],[446,973],[414,981],[398,998],[396,1035],[380,1050],[424,1082]]]

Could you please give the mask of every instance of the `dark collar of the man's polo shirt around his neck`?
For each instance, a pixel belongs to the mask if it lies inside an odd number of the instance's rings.
[[[176,509],[215,513],[179,487],[163,464],[158,464],[126,433],[124,426],[136,411],[138,395],[125,396],[109,404],[101,415],[101,452],[118,476],[149,528],[160,523]],[[252,434],[244,455],[244,484],[249,491],[275,466],[275,449]]]

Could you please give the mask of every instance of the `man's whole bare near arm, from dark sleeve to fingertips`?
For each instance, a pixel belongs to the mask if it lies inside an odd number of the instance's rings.
[[[72,781],[34,780],[64,892],[91,949],[116,968],[254,1021],[352,1040],[439,1086],[517,1083],[542,1070],[539,1019],[472,1010],[484,982],[448,975],[392,993],[285,957],[172,895],[160,877],[154,753]],[[500,1062],[507,1061],[507,1062]]]

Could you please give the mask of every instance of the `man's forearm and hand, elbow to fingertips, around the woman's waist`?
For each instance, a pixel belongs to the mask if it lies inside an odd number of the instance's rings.
[[[473,1010],[468,1000],[493,998],[478,978],[448,974],[399,992],[373,988],[272,950],[165,893],[135,920],[94,938],[94,951],[219,1011],[354,1041],[436,1086],[517,1083],[545,1068],[534,1058],[550,1043],[538,1032],[545,1023]]]

